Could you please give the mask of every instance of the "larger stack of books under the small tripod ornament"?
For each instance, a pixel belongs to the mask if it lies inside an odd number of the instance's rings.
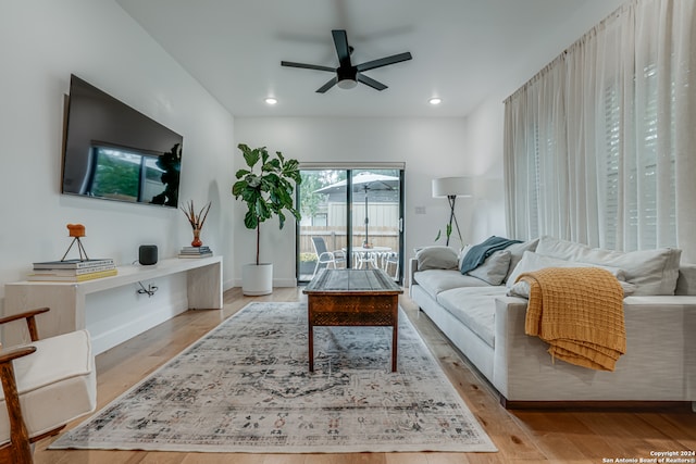
[[[34,263],[27,280],[83,281],[115,276],[116,265],[111,258],[97,260],[65,260]]]

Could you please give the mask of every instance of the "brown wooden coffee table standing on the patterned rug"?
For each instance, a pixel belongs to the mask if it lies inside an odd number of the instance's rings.
[[[315,326],[391,326],[396,372],[399,287],[382,269],[323,269],[304,288],[309,319],[309,371],[314,372]]]

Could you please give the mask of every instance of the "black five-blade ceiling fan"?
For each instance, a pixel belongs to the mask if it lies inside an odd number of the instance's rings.
[[[324,93],[330,88],[338,85],[341,89],[351,89],[362,83],[376,90],[384,90],[387,88],[384,84],[370,78],[362,74],[364,71],[374,70],[376,67],[387,66],[394,63],[400,63],[401,61],[410,60],[411,53],[399,53],[391,57],[381,58],[374,61],[368,61],[353,65],[350,62],[350,53],[352,53],[352,47],[348,45],[348,35],[344,29],[332,30],[334,36],[334,45],[336,46],[336,54],[338,55],[338,67],[320,66],[316,64],[295,63],[291,61],[281,61],[282,66],[289,67],[302,67],[306,70],[327,71],[330,73],[336,73],[336,76],[316,89],[318,93]]]

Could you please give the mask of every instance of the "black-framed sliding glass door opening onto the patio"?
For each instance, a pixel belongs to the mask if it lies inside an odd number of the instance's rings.
[[[301,171],[297,278],[324,267],[380,267],[401,283],[403,168]]]

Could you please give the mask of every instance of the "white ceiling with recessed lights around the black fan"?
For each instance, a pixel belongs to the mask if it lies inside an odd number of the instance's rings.
[[[579,9],[605,0],[116,1],[236,116],[464,116]],[[316,93],[332,73],[281,61],[336,67],[332,29],[347,30],[353,64],[413,59],[365,72],[386,90]]]

